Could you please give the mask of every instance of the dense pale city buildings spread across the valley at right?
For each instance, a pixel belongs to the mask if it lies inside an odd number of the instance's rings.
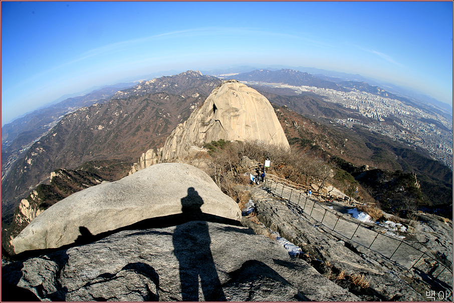
[[[327,97],[327,101],[356,109],[363,116],[373,118],[375,122],[366,124],[354,118],[337,119],[336,122],[347,127],[361,124],[409,146],[423,147],[430,152],[434,159],[452,169],[452,121],[441,114],[427,112],[400,100],[362,91],[343,92],[315,86],[294,86],[281,83],[247,83],[290,88],[297,93],[310,91]],[[386,118],[392,118],[393,123],[385,121]]]

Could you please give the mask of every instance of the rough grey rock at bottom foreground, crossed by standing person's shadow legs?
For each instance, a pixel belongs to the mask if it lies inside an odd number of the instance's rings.
[[[359,300],[276,241],[206,221],[121,231],[10,263],[2,281],[53,301]]]

